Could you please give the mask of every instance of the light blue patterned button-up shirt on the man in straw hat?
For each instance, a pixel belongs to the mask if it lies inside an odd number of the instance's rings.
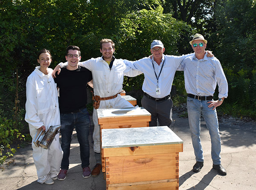
[[[227,79],[217,58],[208,58],[206,53],[203,59],[198,60],[193,53],[182,61],[178,70],[184,70],[188,94],[213,96],[218,83],[218,98],[227,98]]]

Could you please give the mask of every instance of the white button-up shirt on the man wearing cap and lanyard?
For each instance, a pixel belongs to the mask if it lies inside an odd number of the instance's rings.
[[[190,55],[190,54],[189,54]],[[174,79],[174,75],[176,69],[180,65],[181,61],[189,55],[182,55],[182,56],[174,56],[174,55],[163,55],[162,61],[160,65],[158,65],[154,61],[154,57],[152,60],[150,57],[142,58],[137,61],[128,61],[125,60],[125,64],[130,66],[132,69],[138,70],[144,73],[144,82],[142,86],[142,90],[147,93],[148,95],[154,98],[164,98],[170,94],[172,89],[172,82]],[[164,62],[164,65],[163,65]],[[154,64],[154,68],[152,66]],[[159,76],[161,67],[163,65],[162,72]],[[160,95],[156,94],[157,88],[157,77],[159,76],[158,80],[158,88],[160,88]]]

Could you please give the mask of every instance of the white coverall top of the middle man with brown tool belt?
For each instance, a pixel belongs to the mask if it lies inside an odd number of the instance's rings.
[[[67,62],[59,63],[59,65],[61,67],[67,66]],[[134,77],[141,74],[141,72],[126,66],[122,59],[115,59],[111,69],[102,57],[79,62],[79,66],[83,66],[92,72],[94,95],[101,98],[121,92],[124,75]]]

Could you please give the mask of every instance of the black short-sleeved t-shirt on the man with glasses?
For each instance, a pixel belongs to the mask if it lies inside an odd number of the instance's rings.
[[[86,85],[92,79],[92,72],[80,66],[73,71],[64,67],[59,75],[56,72],[54,81],[60,90],[59,108],[61,113],[75,112],[86,106]]]

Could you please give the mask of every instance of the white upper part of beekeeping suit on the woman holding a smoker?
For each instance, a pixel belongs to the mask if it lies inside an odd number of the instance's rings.
[[[50,125],[60,124],[57,88],[52,78],[52,69],[44,75],[40,66],[29,75],[26,82],[26,115],[29,128],[38,129],[43,125],[48,130]]]

